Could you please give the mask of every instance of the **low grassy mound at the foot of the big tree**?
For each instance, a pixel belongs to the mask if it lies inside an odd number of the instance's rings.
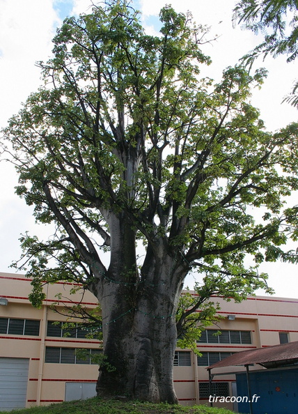
[[[90,398],[85,401],[70,401],[51,404],[45,407],[22,408],[21,410],[2,411],[17,414],[232,414],[225,408],[207,406],[173,406],[152,404],[123,399]]]

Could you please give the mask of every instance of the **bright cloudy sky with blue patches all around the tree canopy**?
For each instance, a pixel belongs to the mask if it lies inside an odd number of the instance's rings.
[[[93,0],[94,4],[97,4]],[[212,65],[202,69],[203,76],[219,80],[227,66],[233,66],[241,56],[260,43],[261,37],[240,26],[233,27],[232,10],[235,0],[133,0],[132,6],[142,12],[141,20],[148,34],[157,33],[160,8],[171,3],[175,10],[190,10],[198,24],[210,26],[210,39],[202,51],[212,58]],[[68,15],[88,13],[90,0],[0,0],[0,129],[10,116],[16,114],[22,102],[41,85],[38,61],[51,56],[56,28]],[[281,104],[292,89],[297,77],[297,61],[286,63],[285,56],[257,61],[255,68],[265,66],[269,75],[262,89],[253,91],[251,103],[260,109],[261,118],[268,130],[283,128],[297,121],[297,109]],[[32,208],[15,195],[17,185],[15,169],[7,162],[0,162],[0,272],[14,273],[10,264],[19,259],[19,237],[26,231],[47,238],[51,230],[35,224]],[[297,195],[290,199],[298,204]],[[296,245],[290,245],[297,248]],[[269,274],[269,286],[280,297],[298,298],[298,267],[288,263],[263,263],[261,271]],[[187,277],[191,287],[195,274]],[[262,291],[258,292],[262,294]],[[1,295],[1,288],[0,288]]]

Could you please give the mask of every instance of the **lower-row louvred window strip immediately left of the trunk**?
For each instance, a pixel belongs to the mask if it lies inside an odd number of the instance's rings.
[[[46,346],[45,362],[49,364],[86,364],[96,365],[93,356],[102,353],[101,349],[87,349],[86,359],[76,355],[76,348],[58,348],[56,346]]]

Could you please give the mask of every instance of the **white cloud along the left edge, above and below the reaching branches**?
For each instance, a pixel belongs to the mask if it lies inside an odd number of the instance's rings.
[[[59,20],[52,0],[0,0],[0,128],[40,86],[36,61],[47,61]],[[0,163],[1,271],[20,255],[19,234],[33,229],[32,209],[14,193],[12,165]],[[40,227],[37,228],[37,232]],[[33,233],[36,233],[34,229]]]

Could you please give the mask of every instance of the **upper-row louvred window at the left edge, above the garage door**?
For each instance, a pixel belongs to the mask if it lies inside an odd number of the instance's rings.
[[[39,335],[40,321],[34,319],[0,318],[0,333],[10,335]]]

